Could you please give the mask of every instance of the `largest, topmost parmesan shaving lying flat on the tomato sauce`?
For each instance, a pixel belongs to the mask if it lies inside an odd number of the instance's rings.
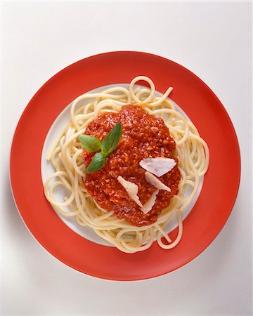
[[[172,158],[165,157],[144,158],[141,160],[140,166],[155,176],[161,177],[171,171],[176,166],[176,162]]]

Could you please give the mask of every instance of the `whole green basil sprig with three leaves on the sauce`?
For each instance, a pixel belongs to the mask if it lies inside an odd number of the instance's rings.
[[[117,147],[122,137],[122,126],[117,123],[114,128],[103,138],[102,142],[99,138],[80,135],[79,142],[87,152],[96,152],[89,166],[84,170],[85,173],[98,171],[105,165],[106,159]],[[99,152],[99,150],[101,150]]]

